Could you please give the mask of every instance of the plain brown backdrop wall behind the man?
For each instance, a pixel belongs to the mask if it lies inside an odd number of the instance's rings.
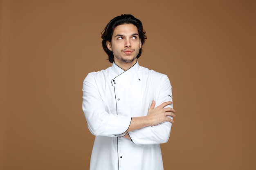
[[[94,136],[82,82],[111,66],[100,33],[131,13],[148,35],[141,66],[173,86],[165,170],[255,170],[253,0],[2,0],[0,169],[88,170]]]

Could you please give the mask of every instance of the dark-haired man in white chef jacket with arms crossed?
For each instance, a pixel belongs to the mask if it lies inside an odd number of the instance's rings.
[[[159,144],[168,141],[175,117],[170,81],[139,66],[147,37],[137,18],[113,18],[101,38],[113,64],[83,82],[83,112],[96,136],[90,170],[163,170]]]

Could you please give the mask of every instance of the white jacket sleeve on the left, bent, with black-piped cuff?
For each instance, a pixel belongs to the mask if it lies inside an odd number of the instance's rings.
[[[83,112],[88,128],[96,136],[123,136],[125,134],[122,133],[130,126],[131,117],[106,112],[97,86],[98,81],[92,73],[89,73],[83,81]]]

